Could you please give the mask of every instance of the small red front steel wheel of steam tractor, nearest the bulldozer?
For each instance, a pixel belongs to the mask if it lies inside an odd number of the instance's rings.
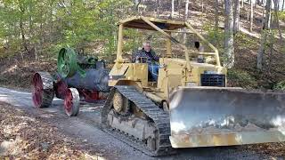
[[[69,88],[64,98],[64,110],[68,116],[77,116],[79,113],[79,92],[76,88]]]

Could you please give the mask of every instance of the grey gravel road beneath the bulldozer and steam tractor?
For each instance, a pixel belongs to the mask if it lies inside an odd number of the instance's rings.
[[[62,100],[54,99],[50,108],[33,108],[31,94],[0,87],[0,101],[9,103],[28,115],[37,116],[57,127],[59,132],[74,140],[81,140],[89,150],[99,151],[107,159],[271,159],[270,154],[256,152],[247,146],[221,148],[179,149],[175,156],[151,157],[126,143],[103,132],[100,125],[100,108],[103,101],[95,104],[81,104],[77,117],[68,117],[62,108]],[[250,147],[249,147],[250,148]],[[264,153],[264,152],[263,152]]]

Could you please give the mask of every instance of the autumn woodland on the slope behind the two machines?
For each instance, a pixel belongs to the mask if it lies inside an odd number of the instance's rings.
[[[283,0],[1,0],[0,12],[0,84],[26,88],[19,79],[34,68],[53,70],[48,64],[66,46],[112,63],[118,20],[143,15],[189,21],[217,47],[230,86],[285,88]],[[127,35],[126,52],[145,39]]]

